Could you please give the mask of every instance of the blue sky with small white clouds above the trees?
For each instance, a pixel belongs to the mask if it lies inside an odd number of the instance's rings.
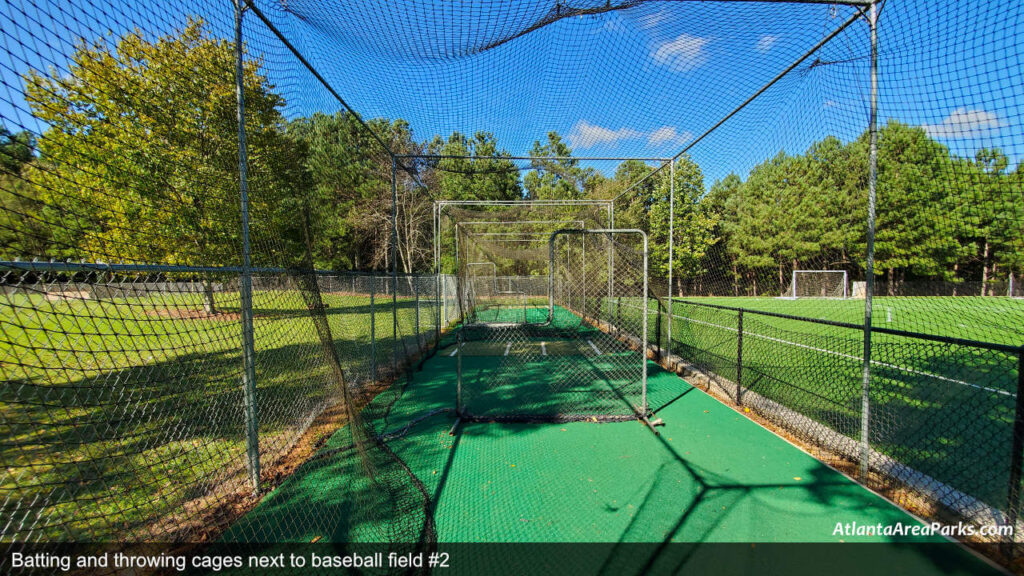
[[[159,12],[136,0],[96,6],[14,1],[0,12],[5,124],[44,128],[25,107],[20,75],[62,67],[77,37],[136,27],[170,33],[201,10],[212,33],[231,34],[227,2],[172,2]],[[421,139],[486,130],[517,155],[556,130],[579,156],[626,157],[676,154],[852,13],[827,5],[650,2],[515,37],[551,4],[290,0],[289,13],[269,0],[260,6],[365,117],[404,118]],[[1015,45],[1024,33],[1021,7],[998,8],[981,0],[890,0],[880,27],[882,120],[925,126],[955,154],[997,146],[1015,162],[1024,159]],[[288,98],[289,116],[339,108],[252,15],[246,36]],[[866,24],[856,23],[695,146],[708,183],[730,171],[745,175],[779,150],[861,133],[867,48]]]

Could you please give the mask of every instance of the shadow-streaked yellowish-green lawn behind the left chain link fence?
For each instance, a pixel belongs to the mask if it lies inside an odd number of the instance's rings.
[[[188,318],[199,294],[3,299],[5,518],[43,539],[173,538],[167,519],[184,504],[244,486],[238,293],[217,300],[222,315]],[[346,377],[368,377],[369,297],[324,302]],[[415,302],[397,305],[409,334]],[[254,310],[260,451],[271,460],[337,390],[297,291],[258,290]],[[391,298],[378,297],[375,313],[383,367],[395,344]],[[421,322],[426,330],[427,308]]]

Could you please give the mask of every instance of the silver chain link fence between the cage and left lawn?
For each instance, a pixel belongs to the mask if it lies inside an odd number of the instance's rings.
[[[313,303],[302,275],[255,276],[250,398],[236,272],[114,268],[2,276],[5,541],[205,539],[250,498],[254,465],[272,486],[315,443],[303,437],[317,418],[318,435],[345,424],[345,396],[369,402],[436,339],[436,277],[395,289],[390,277],[316,274]]]

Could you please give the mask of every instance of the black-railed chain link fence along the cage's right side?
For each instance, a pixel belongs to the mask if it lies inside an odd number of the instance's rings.
[[[1021,347],[876,328],[865,388],[862,326],[695,299],[671,321],[691,382],[925,518],[1020,542]]]

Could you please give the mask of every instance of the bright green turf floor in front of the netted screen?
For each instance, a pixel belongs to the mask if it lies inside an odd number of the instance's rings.
[[[429,360],[394,406],[388,428],[451,406],[455,368],[443,351]],[[666,422],[660,436],[634,421],[463,423],[451,437],[454,417],[441,413],[388,446],[424,483],[442,543],[888,542],[871,546],[871,558],[891,553],[903,573],[936,568],[936,548],[899,542],[937,537],[834,535],[837,523],[916,521],[653,364],[649,396]],[[332,439],[325,450],[336,444]],[[343,461],[300,468],[227,539],[358,539],[286,520],[311,505],[322,516],[351,513],[344,496],[351,469]],[[985,568],[955,544],[939,548],[944,573]]]

